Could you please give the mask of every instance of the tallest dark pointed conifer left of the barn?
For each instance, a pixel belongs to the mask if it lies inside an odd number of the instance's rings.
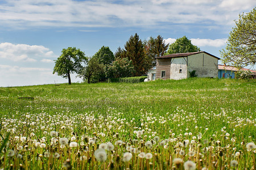
[[[150,66],[147,63],[147,56],[144,52],[143,44],[137,33],[131,36],[129,41],[125,44],[125,49],[123,50],[122,58],[127,57],[135,69],[135,76],[142,75],[146,73]]]

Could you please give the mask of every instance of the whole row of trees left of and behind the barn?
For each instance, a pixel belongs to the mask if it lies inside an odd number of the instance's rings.
[[[168,50],[167,50],[168,49]],[[88,83],[100,78],[122,78],[128,76],[141,76],[156,65],[155,57],[172,53],[197,52],[200,50],[192,45],[187,37],[181,37],[176,42],[165,44],[163,37],[150,37],[142,41],[137,33],[131,36],[124,45],[119,47],[115,54],[108,46],[102,46],[94,56],[85,57],[84,52],[75,47],[63,49],[61,56],[55,61],[53,74],[57,73],[68,78],[71,84],[71,74],[78,76]]]

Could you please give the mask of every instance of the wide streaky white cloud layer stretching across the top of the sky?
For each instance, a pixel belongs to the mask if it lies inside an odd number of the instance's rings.
[[[123,27],[158,23],[234,24],[255,0],[4,0],[0,24],[6,27]],[[83,29],[81,29],[82,31]],[[90,31],[90,30],[89,30]]]

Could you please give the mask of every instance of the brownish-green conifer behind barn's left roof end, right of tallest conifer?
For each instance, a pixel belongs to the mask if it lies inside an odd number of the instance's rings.
[[[156,39],[154,39],[154,37],[150,37],[150,39],[144,40],[143,45],[145,53],[148,56],[148,61],[152,63],[151,67],[153,67],[156,65],[155,57],[164,56],[169,44],[166,45],[163,37],[158,35]]]

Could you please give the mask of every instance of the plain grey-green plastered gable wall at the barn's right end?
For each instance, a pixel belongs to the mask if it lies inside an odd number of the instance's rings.
[[[196,70],[199,77],[218,76],[218,59],[205,53],[188,56],[188,71]],[[189,73],[188,73],[189,76]]]

